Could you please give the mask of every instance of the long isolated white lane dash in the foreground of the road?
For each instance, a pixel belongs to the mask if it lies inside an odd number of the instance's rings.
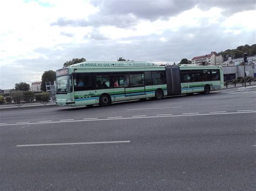
[[[52,144],[31,144],[31,145],[16,145],[17,147],[22,146],[58,146],[58,145],[89,145],[89,144],[107,144],[107,143],[130,143],[130,140],[120,140],[114,142],[87,142],[87,143],[52,143]]]

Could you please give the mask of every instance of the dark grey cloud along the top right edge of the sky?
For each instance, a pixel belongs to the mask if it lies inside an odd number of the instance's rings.
[[[244,10],[255,10],[255,0],[91,0],[104,15],[132,14],[138,18],[156,20],[175,16],[180,12],[199,6],[203,10],[212,7],[225,9],[226,15]]]

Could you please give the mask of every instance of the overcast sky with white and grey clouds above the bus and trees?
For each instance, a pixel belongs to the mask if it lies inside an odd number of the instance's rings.
[[[255,0],[0,1],[0,89],[73,58],[178,62],[256,43]]]

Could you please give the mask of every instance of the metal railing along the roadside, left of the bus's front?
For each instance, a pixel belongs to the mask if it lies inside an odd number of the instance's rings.
[[[41,94],[41,95],[20,95],[20,96],[5,96],[0,100],[0,107],[10,107],[10,105],[16,105],[21,107],[25,104],[36,105],[48,103],[55,103],[56,96]]]

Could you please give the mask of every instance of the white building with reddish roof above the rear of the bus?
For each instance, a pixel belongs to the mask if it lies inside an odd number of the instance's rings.
[[[218,55],[217,52],[211,52],[211,54],[192,58],[193,65],[202,65],[203,62],[205,65],[220,65],[223,62],[223,57]]]

